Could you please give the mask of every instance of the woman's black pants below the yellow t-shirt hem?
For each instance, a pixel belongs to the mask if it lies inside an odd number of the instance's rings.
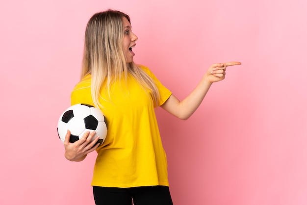
[[[173,205],[167,186],[93,187],[96,205]]]

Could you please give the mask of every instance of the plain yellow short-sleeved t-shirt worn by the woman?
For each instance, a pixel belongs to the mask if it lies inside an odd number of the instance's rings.
[[[139,67],[155,80],[160,93],[159,105],[163,104],[171,91],[147,67]],[[90,85],[90,77],[76,85],[71,96],[72,105],[93,104]],[[110,93],[111,101],[100,101],[108,132],[97,149],[92,186],[168,186],[167,160],[152,98],[130,75],[127,86],[123,79],[112,85]],[[103,89],[101,95],[108,99]]]

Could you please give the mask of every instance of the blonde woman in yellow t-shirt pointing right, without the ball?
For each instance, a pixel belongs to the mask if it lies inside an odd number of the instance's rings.
[[[186,120],[211,84],[225,78],[226,67],[241,64],[213,64],[194,91],[179,101],[147,67],[133,62],[137,39],[128,15],[114,10],[94,14],[85,31],[81,81],[71,103],[99,107],[108,133],[99,146],[99,137],[91,141],[94,132],[70,143],[68,130],[64,146],[71,161],[97,151],[92,180],[96,205],[172,205],[154,107]]]

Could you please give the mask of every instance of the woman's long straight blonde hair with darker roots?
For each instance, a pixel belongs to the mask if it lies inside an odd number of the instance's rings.
[[[102,98],[102,84],[110,96],[110,86],[116,80],[128,74],[134,77],[153,99],[153,105],[158,105],[159,92],[154,80],[140,69],[134,62],[127,63],[123,51],[124,38],[123,17],[127,14],[107,10],[94,14],[85,30],[84,52],[82,61],[81,79],[91,74],[91,95],[97,107],[103,107],[99,99]],[[106,99],[103,99],[106,100]]]

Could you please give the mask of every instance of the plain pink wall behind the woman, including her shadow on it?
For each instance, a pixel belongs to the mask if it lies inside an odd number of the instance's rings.
[[[135,61],[183,99],[215,62],[241,61],[187,121],[157,110],[175,205],[307,204],[306,0],[29,0],[0,8],[1,205],[91,205],[95,153],[56,133],[97,11],[119,9]]]

